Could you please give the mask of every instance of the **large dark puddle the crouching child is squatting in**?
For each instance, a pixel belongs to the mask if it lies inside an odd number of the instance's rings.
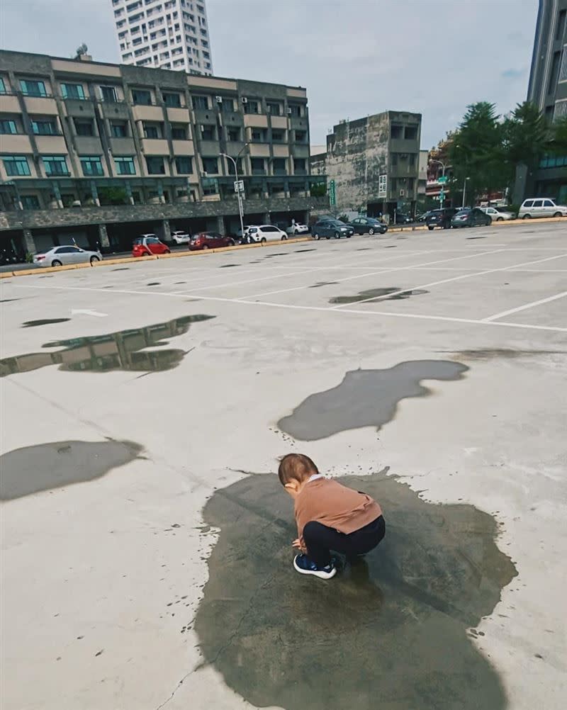
[[[258,707],[504,710],[467,634],[517,574],[494,518],[384,474],[340,480],[381,503],[386,537],[328,582],[293,571],[292,502],[275,474],[215,491],[203,517],[220,533],[195,618],[205,665]]]

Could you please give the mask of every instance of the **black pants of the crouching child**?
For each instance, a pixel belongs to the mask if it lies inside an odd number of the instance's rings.
[[[311,520],[303,528],[303,540],[305,540],[309,557],[318,567],[326,567],[330,563],[330,551],[341,552],[347,557],[365,555],[366,552],[374,550],[374,547],[384,537],[386,523],[382,515],[372,523],[365,525],[360,530],[345,535],[334,528],[328,528],[322,523]]]

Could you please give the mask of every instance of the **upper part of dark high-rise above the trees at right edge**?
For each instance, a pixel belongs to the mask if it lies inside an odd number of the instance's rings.
[[[527,98],[549,121],[567,116],[567,0],[539,0]]]

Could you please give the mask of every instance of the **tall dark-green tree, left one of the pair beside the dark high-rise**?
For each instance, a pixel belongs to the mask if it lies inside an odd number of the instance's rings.
[[[471,204],[487,192],[502,190],[511,180],[504,160],[503,126],[494,104],[477,102],[467,107],[449,148],[451,194],[462,192],[465,180]]]

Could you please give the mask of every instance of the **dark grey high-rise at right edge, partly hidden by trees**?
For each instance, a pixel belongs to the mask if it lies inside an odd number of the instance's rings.
[[[550,123],[567,118],[567,0],[539,0],[527,100]],[[567,202],[567,155],[544,155],[536,170],[519,166],[514,202],[532,196]]]

